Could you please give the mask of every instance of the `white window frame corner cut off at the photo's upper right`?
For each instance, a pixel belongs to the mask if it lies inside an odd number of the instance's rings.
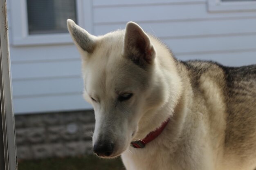
[[[256,1],[222,2],[222,0],[208,0],[209,12],[243,12],[256,11]]]

